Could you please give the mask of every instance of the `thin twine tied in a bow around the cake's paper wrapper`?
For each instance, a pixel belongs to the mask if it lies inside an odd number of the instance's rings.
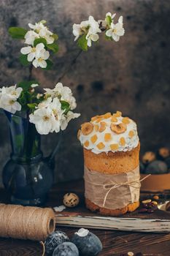
[[[134,187],[134,189],[139,189],[141,187],[141,181],[144,181],[145,178],[148,178],[150,176],[150,174],[148,174],[146,177],[142,178],[142,179],[136,179],[134,181],[125,181],[125,182],[120,182],[120,183],[114,183],[113,181],[111,181],[110,183],[106,183],[106,184],[95,184],[93,182],[90,181],[86,181],[90,184],[96,185],[96,186],[101,186],[103,187],[103,189],[108,190],[106,195],[104,196],[104,203],[102,205],[102,207],[105,206],[107,197],[109,195],[109,192],[112,191],[112,189],[116,189],[117,187],[121,187],[121,186],[126,186],[128,185],[129,187]]]

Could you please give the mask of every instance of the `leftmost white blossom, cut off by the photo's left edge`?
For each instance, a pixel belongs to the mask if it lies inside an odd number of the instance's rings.
[[[21,105],[17,101],[20,97],[22,88],[17,86],[2,87],[0,91],[0,108],[7,110],[10,113],[15,113],[21,110]]]

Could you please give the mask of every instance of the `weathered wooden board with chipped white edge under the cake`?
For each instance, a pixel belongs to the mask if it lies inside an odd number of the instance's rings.
[[[105,230],[125,230],[140,232],[169,233],[170,212],[156,210],[152,214],[141,214],[139,209],[120,217],[104,217],[101,214],[93,213],[85,208],[83,193],[80,195],[80,205],[76,208],[66,208],[62,212],[56,212],[57,225],[71,227],[93,227]],[[152,196],[152,195],[150,195]],[[58,195],[58,205],[62,205]],[[146,195],[142,195],[146,198]],[[61,197],[62,198],[62,197]],[[144,198],[144,199],[145,199]],[[148,195],[147,195],[148,198]],[[167,200],[167,195],[161,200]]]

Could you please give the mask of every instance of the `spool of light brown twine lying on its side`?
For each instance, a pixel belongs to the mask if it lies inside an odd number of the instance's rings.
[[[0,204],[0,236],[45,241],[55,230],[52,208]]]

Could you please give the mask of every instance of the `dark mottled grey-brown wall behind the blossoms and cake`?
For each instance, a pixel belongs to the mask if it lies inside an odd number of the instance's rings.
[[[45,19],[58,33],[60,51],[51,71],[34,69],[34,78],[43,87],[55,86],[78,48],[72,24],[88,15],[104,18],[106,12],[123,15],[125,36],[120,42],[100,42],[82,53],[63,78],[77,98],[77,112],[82,116],[64,132],[56,157],[56,181],[82,176],[82,148],[77,128],[96,113],[121,110],[138,124],[142,151],[169,146],[169,28],[170,3],[166,0],[0,0],[0,85],[8,86],[28,77],[18,56],[22,43],[11,39],[9,26],[27,27],[27,23]],[[7,121],[0,116],[0,172],[9,157]],[[49,154],[58,135],[42,138],[42,148]],[[1,181],[1,178],[0,178]]]

